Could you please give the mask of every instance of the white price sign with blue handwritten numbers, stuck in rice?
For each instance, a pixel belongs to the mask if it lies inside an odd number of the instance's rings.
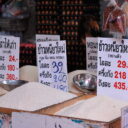
[[[39,82],[68,91],[65,41],[37,42]]]

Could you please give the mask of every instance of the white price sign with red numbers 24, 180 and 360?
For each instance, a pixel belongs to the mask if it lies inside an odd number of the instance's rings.
[[[19,79],[20,39],[0,36],[0,81]]]

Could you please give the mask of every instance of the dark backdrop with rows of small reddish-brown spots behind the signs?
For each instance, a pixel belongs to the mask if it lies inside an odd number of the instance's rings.
[[[1,1],[1,6],[7,0]],[[78,24],[83,14],[94,15],[102,32],[103,0],[24,0],[30,17],[20,48],[20,66],[36,65],[35,34],[59,34],[67,43],[68,72],[86,68],[86,49],[78,41]],[[119,5],[124,1],[118,0]]]

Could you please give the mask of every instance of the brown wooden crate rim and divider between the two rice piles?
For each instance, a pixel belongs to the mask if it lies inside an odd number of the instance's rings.
[[[29,113],[35,113],[35,114],[43,114],[43,115],[49,115],[54,117],[60,117],[60,118],[68,118],[72,120],[81,120],[86,122],[87,124],[91,125],[97,125],[99,128],[121,128],[121,119],[115,119],[111,122],[101,122],[101,121],[94,121],[94,120],[87,120],[87,119],[76,119],[76,118],[70,118],[70,117],[64,117],[64,116],[55,116],[54,113],[61,110],[64,107],[67,107],[69,105],[75,104],[76,102],[80,100],[86,100],[88,98],[92,98],[95,95],[81,95],[76,98],[73,98],[71,100],[65,101],[60,104],[52,105],[50,107],[46,107],[37,111],[23,111],[23,110],[16,110],[16,109],[10,109],[10,108],[0,108],[0,113],[5,114],[11,114],[12,112],[29,112]],[[92,127],[93,128],[93,127]]]

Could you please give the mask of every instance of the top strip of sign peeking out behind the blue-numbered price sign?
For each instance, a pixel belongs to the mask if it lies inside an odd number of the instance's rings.
[[[60,40],[60,35],[46,35],[46,34],[36,35],[36,42],[58,41],[58,40]]]

